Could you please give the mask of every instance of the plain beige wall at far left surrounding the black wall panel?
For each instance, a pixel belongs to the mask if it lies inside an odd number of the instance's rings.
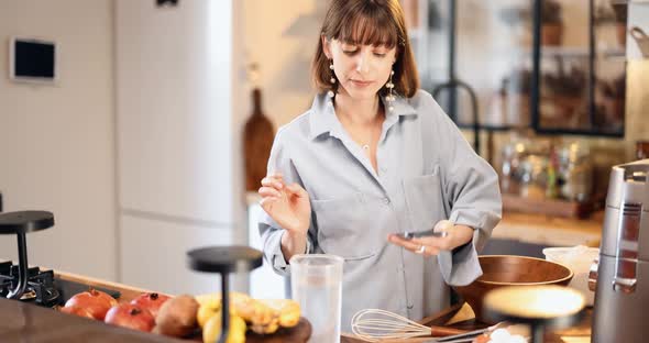
[[[0,1],[0,189],[4,210],[54,212],[29,261],[114,279],[116,170],[110,0]],[[57,43],[55,86],[8,78],[10,36]],[[16,257],[0,236],[0,259]]]

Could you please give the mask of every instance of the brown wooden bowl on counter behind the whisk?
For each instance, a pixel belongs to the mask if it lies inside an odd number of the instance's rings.
[[[572,270],[556,262],[515,255],[479,256],[483,275],[468,286],[454,286],[453,289],[471,306],[475,318],[483,319],[482,300],[492,289],[507,286],[568,286]]]

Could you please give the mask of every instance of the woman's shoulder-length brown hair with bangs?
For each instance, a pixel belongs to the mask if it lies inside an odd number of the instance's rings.
[[[394,90],[411,98],[419,88],[419,77],[404,11],[398,0],[332,0],[322,23],[321,36],[361,45],[385,45],[397,47],[393,66]],[[318,91],[336,90],[338,82],[331,85],[329,59],[324,55],[322,38],[318,37],[316,56],[311,63],[311,77]],[[385,87],[381,92],[385,92]]]

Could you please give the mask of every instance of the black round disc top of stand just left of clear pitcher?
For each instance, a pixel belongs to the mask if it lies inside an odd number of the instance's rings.
[[[207,246],[187,253],[191,269],[207,273],[241,273],[260,267],[262,252],[250,246]]]

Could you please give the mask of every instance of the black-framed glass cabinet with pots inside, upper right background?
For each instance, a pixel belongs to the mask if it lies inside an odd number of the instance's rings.
[[[604,37],[596,30],[595,19],[595,0],[584,1],[587,9],[587,48],[550,48],[541,46],[542,41],[542,8],[543,2],[549,0],[534,0],[534,18],[532,18],[532,74],[531,74],[531,119],[532,128],[537,133],[541,134],[579,134],[579,135],[594,135],[608,137],[623,137],[625,135],[625,96],[624,88],[617,88],[616,91],[609,91],[609,95],[604,95],[601,91],[602,82],[617,84],[620,78],[626,79],[626,51],[616,47],[600,47],[606,40],[598,40]],[[568,0],[563,0],[565,3]],[[563,19],[565,21],[565,18]],[[568,23],[570,24],[570,23]],[[584,55],[585,51],[585,55]],[[574,56],[584,58],[583,65],[578,66],[579,70],[585,74],[583,86],[579,79],[566,75],[559,75],[561,82],[568,82],[573,89],[581,87],[583,95],[586,95],[586,107],[572,106],[570,103],[561,102],[563,99],[563,87],[554,87],[549,89],[541,84],[546,75],[541,66],[541,59],[546,58],[548,54],[554,56]],[[566,55],[568,54],[568,55]],[[572,54],[572,55],[570,55]],[[601,64],[600,58],[613,59],[618,64],[620,71],[616,71],[613,64]],[[605,67],[604,67],[605,66]],[[603,68],[608,68],[612,73],[620,73],[615,78],[601,79],[600,77],[606,75]],[[560,71],[562,73],[562,71]],[[572,79],[571,79],[572,78]],[[572,82],[576,81],[576,82]],[[576,85],[576,86],[575,86]],[[547,84],[546,84],[547,86]],[[557,82],[556,82],[557,86]],[[622,93],[622,95],[620,95]],[[551,98],[548,98],[551,96]],[[556,107],[548,108],[541,106],[543,99],[552,99]],[[557,104],[565,104],[559,106]]]

